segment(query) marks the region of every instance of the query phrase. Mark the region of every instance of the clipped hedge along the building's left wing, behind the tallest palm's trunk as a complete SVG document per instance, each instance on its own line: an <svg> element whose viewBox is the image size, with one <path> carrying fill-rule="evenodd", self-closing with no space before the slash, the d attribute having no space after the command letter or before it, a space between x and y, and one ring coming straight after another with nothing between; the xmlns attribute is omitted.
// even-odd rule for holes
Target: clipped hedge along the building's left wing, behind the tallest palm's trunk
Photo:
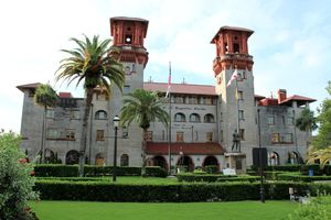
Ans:
<svg viewBox="0 0 331 220"><path fill-rule="evenodd" d="M61 164L43 164L34 167L35 176L38 177L75 177L78 175L78 165L61 165ZM159 166L146 167L148 176L166 177L167 172ZM109 176L113 174L113 166L84 166L85 176ZM125 167L116 168L117 176L139 176L141 167Z"/></svg>

